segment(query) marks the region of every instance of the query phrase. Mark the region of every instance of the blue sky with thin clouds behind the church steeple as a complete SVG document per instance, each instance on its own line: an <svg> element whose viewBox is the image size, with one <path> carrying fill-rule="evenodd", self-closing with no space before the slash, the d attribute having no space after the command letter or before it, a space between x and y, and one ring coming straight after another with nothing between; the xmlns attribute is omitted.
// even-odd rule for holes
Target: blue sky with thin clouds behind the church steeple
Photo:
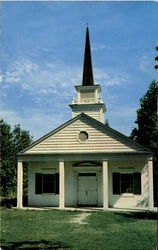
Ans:
<svg viewBox="0 0 158 250"><path fill-rule="evenodd" d="M34 139L71 119L86 23L110 126L129 135L154 70L156 2L3 2L2 115Z"/></svg>

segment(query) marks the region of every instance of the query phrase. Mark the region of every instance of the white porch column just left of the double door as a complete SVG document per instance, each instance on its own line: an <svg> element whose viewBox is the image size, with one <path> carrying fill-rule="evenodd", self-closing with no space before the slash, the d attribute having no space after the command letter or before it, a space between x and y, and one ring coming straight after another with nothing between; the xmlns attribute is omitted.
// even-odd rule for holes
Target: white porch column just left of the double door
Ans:
<svg viewBox="0 0 158 250"><path fill-rule="evenodd" d="M64 162L59 162L59 208L65 207L65 166Z"/></svg>

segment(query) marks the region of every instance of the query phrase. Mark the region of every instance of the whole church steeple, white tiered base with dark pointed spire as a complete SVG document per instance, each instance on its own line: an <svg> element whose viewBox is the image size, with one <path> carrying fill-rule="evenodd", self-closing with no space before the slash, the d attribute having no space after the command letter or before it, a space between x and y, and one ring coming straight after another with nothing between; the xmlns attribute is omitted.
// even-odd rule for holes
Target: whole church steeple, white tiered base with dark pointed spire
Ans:
<svg viewBox="0 0 158 250"><path fill-rule="evenodd" d="M88 27L86 28L82 85L76 85L75 88L77 91L77 100L73 98L72 103L69 105L72 109L72 117L80 113L85 113L104 123L106 107L100 98L100 85L94 84Z"/></svg>

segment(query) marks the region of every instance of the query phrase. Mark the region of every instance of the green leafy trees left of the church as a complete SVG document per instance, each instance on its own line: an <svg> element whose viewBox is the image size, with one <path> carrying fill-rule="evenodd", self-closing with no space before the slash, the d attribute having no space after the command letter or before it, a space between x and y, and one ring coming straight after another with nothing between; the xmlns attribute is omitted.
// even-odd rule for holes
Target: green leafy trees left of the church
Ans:
<svg viewBox="0 0 158 250"><path fill-rule="evenodd" d="M16 192L17 154L32 142L28 131L16 125L11 130L4 120L0 120L1 141L1 193L3 196L14 197ZM26 186L27 173L24 171ZM24 187L25 187L24 186Z"/></svg>

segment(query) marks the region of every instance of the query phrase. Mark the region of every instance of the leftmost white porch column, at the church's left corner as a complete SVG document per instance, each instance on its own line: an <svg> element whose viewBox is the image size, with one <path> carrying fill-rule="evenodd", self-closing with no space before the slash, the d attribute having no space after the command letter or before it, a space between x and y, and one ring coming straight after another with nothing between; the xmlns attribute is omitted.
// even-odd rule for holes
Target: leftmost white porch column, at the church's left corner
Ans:
<svg viewBox="0 0 158 250"><path fill-rule="evenodd" d="M23 164L18 161L17 168L17 208L23 207Z"/></svg>

